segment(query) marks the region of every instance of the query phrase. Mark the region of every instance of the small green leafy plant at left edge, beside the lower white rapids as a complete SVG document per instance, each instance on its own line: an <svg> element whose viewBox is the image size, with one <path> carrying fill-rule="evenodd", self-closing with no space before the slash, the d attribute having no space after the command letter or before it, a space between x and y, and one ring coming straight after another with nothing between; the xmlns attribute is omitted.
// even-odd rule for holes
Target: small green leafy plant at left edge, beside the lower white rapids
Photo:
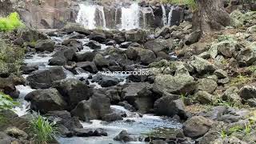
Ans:
<svg viewBox="0 0 256 144"><path fill-rule="evenodd" d="M3 94L0 91L0 110L10 110L14 106L17 106L17 105L18 105L18 103L14 102L13 98L10 98L9 95Z"/></svg>

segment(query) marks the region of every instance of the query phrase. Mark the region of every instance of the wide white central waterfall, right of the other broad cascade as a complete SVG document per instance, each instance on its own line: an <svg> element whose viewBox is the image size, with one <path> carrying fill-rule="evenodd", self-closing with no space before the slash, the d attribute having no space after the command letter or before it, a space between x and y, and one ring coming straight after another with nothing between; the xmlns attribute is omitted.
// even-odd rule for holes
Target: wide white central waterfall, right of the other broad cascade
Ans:
<svg viewBox="0 0 256 144"><path fill-rule="evenodd" d="M139 28L140 6L133 3L129 8L122 7L122 27L121 29L131 30Z"/></svg>

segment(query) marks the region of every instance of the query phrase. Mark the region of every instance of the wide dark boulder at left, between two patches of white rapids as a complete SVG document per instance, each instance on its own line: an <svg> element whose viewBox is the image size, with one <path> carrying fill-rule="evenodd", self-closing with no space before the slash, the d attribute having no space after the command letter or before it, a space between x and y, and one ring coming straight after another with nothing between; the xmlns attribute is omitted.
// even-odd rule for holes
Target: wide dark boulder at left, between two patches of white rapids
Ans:
<svg viewBox="0 0 256 144"><path fill-rule="evenodd" d="M54 81L66 78L62 67L51 67L49 70L37 70L30 74L26 80L34 89L47 89Z"/></svg>

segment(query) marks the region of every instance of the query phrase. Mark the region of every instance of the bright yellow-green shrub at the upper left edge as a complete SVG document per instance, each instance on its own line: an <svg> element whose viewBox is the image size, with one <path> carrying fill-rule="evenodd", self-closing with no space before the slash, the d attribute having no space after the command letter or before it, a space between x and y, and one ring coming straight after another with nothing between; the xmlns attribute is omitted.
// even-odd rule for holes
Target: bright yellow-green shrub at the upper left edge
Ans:
<svg viewBox="0 0 256 144"><path fill-rule="evenodd" d="M21 26L23 26L22 21L16 12L10 13L6 18L0 18L0 31L15 30Z"/></svg>

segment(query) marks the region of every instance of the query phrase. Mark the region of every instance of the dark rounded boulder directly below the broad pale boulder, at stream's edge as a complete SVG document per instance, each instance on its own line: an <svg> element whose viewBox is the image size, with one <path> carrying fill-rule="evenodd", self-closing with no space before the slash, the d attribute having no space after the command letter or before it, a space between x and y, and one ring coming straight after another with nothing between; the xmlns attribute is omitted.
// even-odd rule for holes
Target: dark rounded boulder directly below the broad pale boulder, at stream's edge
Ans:
<svg viewBox="0 0 256 144"><path fill-rule="evenodd" d="M182 102L182 99L178 98L177 95L168 95L159 98L156 102L154 102L154 113L168 117L178 115L182 119L187 118L185 105Z"/></svg>

